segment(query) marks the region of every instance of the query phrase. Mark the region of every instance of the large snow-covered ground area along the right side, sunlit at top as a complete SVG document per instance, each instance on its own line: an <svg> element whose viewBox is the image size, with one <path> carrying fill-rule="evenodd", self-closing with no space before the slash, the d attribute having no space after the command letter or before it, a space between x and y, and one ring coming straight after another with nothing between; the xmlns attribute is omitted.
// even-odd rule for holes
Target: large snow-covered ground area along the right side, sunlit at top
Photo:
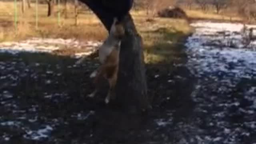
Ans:
<svg viewBox="0 0 256 144"><path fill-rule="evenodd" d="M186 142L255 143L256 42L244 48L242 24L196 22L191 26L195 32L186 42L186 66L198 78L192 93L197 122L184 128L184 135L191 138ZM230 40L237 47L226 44Z"/></svg>

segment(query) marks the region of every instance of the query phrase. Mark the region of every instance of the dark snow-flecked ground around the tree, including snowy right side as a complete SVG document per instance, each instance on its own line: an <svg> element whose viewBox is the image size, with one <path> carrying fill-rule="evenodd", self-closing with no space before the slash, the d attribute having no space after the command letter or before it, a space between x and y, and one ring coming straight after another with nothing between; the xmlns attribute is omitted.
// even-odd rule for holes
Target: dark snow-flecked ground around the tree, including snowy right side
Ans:
<svg viewBox="0 0 256 144"><path fill-rule="evenodd" d="M171 62L146 65L153 109L143 115L104 104L106 87L85 97L97 60L0 53L0 143L256 144L256 42L209 45L239 44L238 25L195 25Z"/></svg>

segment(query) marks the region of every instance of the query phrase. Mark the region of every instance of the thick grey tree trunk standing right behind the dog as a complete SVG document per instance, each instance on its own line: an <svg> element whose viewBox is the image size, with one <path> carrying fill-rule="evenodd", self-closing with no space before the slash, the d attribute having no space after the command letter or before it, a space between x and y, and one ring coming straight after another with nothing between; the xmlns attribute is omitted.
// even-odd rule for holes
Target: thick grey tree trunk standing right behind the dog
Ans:
<svg viewBox="0 0 256 144"><path fill-rule="evenodd" d="M124 19L126 36L120 49L120 63L116 86L117 102L134 110L150 106L143 57L142 38L138 34L132 16Z"/></svg>

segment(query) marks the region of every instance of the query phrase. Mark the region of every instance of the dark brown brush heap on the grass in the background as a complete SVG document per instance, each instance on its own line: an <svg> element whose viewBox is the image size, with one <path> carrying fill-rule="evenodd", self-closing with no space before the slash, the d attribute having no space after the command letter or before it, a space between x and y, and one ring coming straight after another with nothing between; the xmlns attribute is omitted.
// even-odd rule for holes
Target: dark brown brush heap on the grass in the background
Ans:
<svg viewBox="0 0 256 144"><path fill-rule="evenodd" d="M184 10L179 7L175 8L164 8L158 12L158 16L165 18L184 18L188 19L188 16Z"/></svg>

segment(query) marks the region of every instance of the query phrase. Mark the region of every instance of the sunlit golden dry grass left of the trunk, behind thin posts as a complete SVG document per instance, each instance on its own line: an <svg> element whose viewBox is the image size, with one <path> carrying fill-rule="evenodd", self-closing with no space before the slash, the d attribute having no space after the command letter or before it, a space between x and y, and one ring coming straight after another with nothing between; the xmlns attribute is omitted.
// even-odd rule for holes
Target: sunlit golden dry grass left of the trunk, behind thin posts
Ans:
<svg viewBox="0 0 256 144"><path fill-rule="evenodd" d="M20 8L20 3L18 3L18 8ZM71 8L71 5L69 5L69 9ZM24 14L18 10L18 30L16 33L14 27L14 4L12 2L0 2L0 9L0 27L3 27L3 31L0 34L4 35L0 41L22 40L30 37L102 40L107 34L98 18L89 12L79 14L79 25L75 26L74 14L69 10L68 18L65 19L62 16L61 26L58 26L56 12L52 17L46 16L46 4L38 6L38 30L36 30L35 26L34 4L32 4L32 8L27 8ZM61 11L63 11L63 7L61 7Z"/></svg>

